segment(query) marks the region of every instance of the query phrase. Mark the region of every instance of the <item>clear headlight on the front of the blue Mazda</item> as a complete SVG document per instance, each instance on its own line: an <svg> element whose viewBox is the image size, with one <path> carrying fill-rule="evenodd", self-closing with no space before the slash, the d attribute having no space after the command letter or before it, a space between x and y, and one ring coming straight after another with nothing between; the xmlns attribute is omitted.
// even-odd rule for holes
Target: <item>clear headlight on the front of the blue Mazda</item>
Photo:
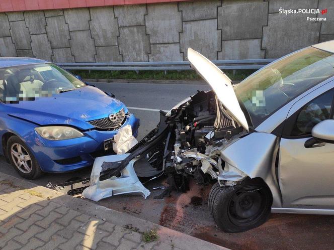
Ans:
<svg viewBox="0 0 334 250"><path fill-rule="evenodd" d="M35 131L43 138L47 140L66 140L78 137L83 137L80 131L73 129L71 127L64 126L47 126L35 128Z"/></svg>

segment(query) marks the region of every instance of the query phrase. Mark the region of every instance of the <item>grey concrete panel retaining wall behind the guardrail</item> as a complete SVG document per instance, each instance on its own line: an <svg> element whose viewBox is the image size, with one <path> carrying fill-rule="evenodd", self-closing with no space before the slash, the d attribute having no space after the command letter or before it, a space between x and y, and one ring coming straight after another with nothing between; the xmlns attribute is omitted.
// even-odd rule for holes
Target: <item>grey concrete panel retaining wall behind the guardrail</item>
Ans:
<svg viewBox="0 0 334 250"><path fill-rule="evenodd" d="M23 1L23 0L20 0ZM327 9L284 15L279 9ZM332 0L194 0L0 13L0 56L55 62L277 58L334 39Z"/></svg>

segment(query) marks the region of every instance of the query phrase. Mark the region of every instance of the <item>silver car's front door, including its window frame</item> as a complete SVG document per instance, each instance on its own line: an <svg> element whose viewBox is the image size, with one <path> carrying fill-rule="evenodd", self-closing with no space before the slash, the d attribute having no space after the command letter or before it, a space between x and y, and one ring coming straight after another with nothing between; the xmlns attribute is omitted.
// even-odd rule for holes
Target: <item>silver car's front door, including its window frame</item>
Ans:
<svg viewBox="0 0 334 250"><path fill-rule="evenodd" d="M297 101L294 106L304 104L285 121L278 161L284 208L334 208L334 144L305 146L315 124L333 118L333 97L334 88L304 97L308 102Z"/></svg>

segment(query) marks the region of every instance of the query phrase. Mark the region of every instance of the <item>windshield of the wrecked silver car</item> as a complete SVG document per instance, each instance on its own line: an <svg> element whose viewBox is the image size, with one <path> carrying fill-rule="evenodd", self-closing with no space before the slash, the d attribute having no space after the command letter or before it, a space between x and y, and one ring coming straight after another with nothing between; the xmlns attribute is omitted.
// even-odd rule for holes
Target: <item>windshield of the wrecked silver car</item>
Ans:
<svg viewBox="0 0 334 250"><path fill-rule="evenodd" d="M308 47L249 76L235 87L235 93L256 128L278 108L332 75L334 55Z"/></svg>

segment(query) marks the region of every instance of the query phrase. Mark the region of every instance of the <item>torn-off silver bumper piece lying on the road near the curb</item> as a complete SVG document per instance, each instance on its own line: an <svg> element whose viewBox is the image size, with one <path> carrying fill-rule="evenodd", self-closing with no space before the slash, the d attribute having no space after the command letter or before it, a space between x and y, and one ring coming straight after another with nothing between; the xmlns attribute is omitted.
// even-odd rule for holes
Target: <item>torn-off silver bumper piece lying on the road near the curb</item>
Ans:
<svg viewBox="0 0 334 250"><path fill-rule="evenodd" d="M146 197L150 195L150 192L141 184L133 169L133 164L137 159L131 160L121 171L119 177L113 176L100 181L100 173L103 170L102 165L104 163L115 163L115 167L117 167L118 163L123 161L127 156L129 156L129 154L96 158L91 174L91 186L82 192L82 196L93 201L99 201L113 195L140 194L146 199Z"/></svg>

